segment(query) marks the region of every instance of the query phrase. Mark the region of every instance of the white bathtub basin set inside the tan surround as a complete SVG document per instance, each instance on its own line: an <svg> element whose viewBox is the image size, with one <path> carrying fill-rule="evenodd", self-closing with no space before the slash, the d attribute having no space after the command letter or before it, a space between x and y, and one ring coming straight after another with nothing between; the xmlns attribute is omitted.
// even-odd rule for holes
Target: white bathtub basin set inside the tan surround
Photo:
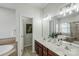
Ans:
<svg viewBox="0 0 79 59"><path fill-rule="evenodd" d="M9 55L13 48L14 48L14 45L1 45L0 46L0 56Z"/></svg>

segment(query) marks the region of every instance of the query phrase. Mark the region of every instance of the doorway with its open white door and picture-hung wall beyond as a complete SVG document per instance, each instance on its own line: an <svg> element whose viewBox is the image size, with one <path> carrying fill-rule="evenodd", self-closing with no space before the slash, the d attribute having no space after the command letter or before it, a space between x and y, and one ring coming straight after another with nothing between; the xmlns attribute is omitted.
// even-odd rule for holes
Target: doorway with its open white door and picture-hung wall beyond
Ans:
<svg viewBox="0 0 79 59"><path fill-rule="evenodd" d="M19 54L23 55L25 48L31 47L32 50L32 38L33 38L33 19L25 16L20 17L20 39L19 39Z"/></svg>

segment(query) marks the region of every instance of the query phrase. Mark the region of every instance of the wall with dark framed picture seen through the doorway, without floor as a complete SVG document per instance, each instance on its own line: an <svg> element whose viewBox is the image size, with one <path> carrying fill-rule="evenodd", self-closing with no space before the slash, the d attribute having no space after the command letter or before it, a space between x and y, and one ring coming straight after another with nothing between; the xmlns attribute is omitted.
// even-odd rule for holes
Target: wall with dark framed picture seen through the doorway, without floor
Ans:
<svg viewBox="0 0 79 59"><path fill-rule="evenodd" d="M32 18L23 19L24 47L32 45Z"/></svg>

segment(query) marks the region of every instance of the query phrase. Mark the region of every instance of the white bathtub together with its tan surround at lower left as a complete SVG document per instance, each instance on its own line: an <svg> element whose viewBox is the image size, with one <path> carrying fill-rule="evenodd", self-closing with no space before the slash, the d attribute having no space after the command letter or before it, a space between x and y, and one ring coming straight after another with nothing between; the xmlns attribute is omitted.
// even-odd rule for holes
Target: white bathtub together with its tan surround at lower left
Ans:
<svg viewBox="0 0 79 59"><path fill-rule="evenodd" d="M17 42L16 42L15 37L0 39L0 47L3 48L3 49L1 48L2 53L0 53L0 56L9 56L12 53L15 53L15 55L17 55L17 52L16 52L17 45L16 44L17 44Z"/></svg>

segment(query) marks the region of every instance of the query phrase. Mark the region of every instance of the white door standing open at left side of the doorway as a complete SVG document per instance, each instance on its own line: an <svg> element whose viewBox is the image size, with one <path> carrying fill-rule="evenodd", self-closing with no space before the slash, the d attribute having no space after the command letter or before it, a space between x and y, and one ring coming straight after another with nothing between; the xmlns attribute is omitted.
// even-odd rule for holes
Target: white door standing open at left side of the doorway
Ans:
<svg viewBox="0 0 79 59"><path fill-rule="evenodd" d="M24 49L24 44L23 44L23 40L24 40L24 35L23 35L23 17L21 16L20 17L20 45L19 45L19 52L20 52L20 55L23 54L23 49Z"/></svg>

